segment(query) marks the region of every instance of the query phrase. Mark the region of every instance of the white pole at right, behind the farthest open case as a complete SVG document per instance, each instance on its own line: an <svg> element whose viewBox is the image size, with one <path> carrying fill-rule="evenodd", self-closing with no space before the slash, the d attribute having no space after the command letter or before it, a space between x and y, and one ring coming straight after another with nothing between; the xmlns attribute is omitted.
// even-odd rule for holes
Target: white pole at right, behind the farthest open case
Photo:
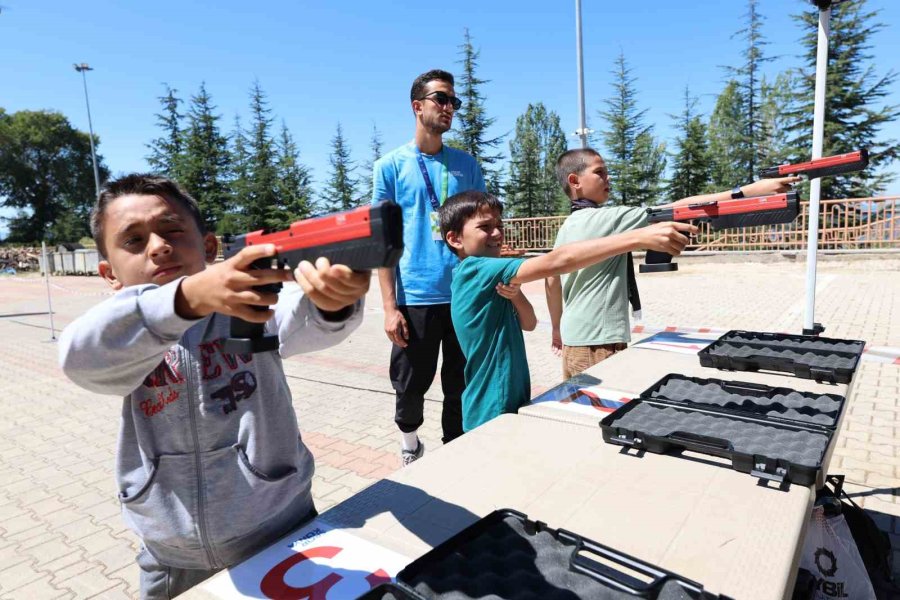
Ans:
<svg viewBox="0 0 900 600"><path fill-rule="evenodd" d="M816 91L815 108L813 110L813 148L812 158L822 157L822 145L825 137L825 84L828 74L828 38L831 34L829 21L831 8L819 10L819 45L816 51ZM819 196L822 191L822 180L813 179L809 184L809 228L806 234L806 314L803 320L803 333L816 335L824 328L816 326L816 250L819 246Z"/></svg>

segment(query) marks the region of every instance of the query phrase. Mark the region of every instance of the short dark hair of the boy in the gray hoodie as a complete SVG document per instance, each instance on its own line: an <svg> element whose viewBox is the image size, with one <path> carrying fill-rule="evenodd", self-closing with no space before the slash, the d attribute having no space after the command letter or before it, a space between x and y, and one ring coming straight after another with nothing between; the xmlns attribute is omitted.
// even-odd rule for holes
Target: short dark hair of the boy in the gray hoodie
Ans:
<svg viewBox="0 0 900 600"><path fill-rule="evenodd" d="M94 238L97 250L103 258L106 258L106 247L103 243L103 216L106 213L106 207L116 198L132 194L161 196L166 200L178 202L193 217L200 234L206 235L206 224L200 215L200 207L197 206L197 201L184 188L161 175L131 173L130 175L124 175L106 182L106 185L103 186L103 190L100 192L100 196L97 197L97 203L94 204L94 208L91 210L91 236Z"/></svg>

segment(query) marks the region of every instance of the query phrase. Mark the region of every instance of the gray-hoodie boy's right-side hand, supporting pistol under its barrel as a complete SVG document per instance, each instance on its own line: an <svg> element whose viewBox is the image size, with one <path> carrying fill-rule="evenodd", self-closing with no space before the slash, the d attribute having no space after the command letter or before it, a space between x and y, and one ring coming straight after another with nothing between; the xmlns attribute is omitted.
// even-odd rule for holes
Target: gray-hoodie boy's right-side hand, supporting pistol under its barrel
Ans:
<svg viewBox="0 0 900 600"><path fill-rule="evenodd" d="M321 257L315 265L302 261L294 269L294 277L319 310L337 312L366 295L372 272L332 265L327 258Z"/></svg>

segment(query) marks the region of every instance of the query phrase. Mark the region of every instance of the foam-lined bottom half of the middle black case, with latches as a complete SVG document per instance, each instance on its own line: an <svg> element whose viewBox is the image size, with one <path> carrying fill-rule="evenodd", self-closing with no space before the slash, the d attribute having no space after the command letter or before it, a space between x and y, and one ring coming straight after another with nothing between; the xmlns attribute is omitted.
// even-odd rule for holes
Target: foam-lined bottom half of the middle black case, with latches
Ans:
<svg viewBox="0 0 900 600"><path fill-rule="evenodd" d="M833 448L835 430L746 411L663 399L632 400L600 421L609 444L666 454L692 450L720 456L742 473L779 484L814 485Z"/></svg>

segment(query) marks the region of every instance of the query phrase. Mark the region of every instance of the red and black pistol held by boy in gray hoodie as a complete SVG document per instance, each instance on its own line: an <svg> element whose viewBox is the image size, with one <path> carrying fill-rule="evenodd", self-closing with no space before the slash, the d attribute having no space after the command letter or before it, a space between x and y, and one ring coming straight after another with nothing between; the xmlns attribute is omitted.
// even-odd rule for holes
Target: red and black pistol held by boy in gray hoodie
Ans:
<svg viewBox="0 0 900 600"><path fill-rule="evenodd" d="M356 271L393 268L403 254L403 214L397 204L382 202L297 221L282 231L259 230L224 236L223 254L230 258L247 246L259 244L275 244L277 254L256 261L251 267L254 269L286 266L294 269L300 261L313 262L320 256L333 265L347 265ZM279 292L281 284L259 289ZM232 317L231 337L225 340L224 348L231 354L268 352L278 349L278 336L265 334L264 323L248 323Z"/></svg>

